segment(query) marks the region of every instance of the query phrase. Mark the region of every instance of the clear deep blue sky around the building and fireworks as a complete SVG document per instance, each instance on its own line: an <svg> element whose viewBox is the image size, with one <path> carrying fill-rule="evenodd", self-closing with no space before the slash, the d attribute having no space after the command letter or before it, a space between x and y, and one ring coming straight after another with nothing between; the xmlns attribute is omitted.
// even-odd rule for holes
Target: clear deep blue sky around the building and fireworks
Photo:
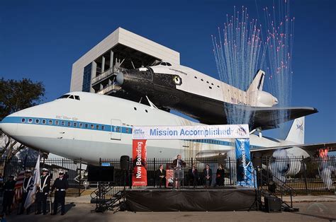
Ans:
<svg viewBox="0 0 336 222"><path fill-rule="evenodd" d="M219 78L211 35L223 28L234 6L246 6L251 18L260 18L271 2L2 0L0 78L43 81L44 101L54 100L69 91L72 64L118 27L180 52L182 65ZM333 0L291 1L291 105L319 111L306 117L307 144L336 141L335 9Z"/></svg>

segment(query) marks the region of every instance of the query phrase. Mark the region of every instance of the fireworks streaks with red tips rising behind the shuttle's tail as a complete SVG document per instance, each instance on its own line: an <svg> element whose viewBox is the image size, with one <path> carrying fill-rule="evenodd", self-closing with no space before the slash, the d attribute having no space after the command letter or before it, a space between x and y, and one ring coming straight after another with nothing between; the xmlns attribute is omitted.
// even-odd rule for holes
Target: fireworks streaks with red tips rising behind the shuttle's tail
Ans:
<svg viewBox="0 0 336 222"><path fill-rule="evenodd" d="M263 69L269 79L268 91L285 107L291 103L294 18L290 17L286 0L263 10L261 23L249 17L246 7L242 6L241 11L234 7L223 30L218 28L218 37L212 37L215 62L220 80L241 90L247 90L257 71ZM249 113L232 107L225 112L230 124L250 123ZM285 118L286 113L281 117Z"/></svg>

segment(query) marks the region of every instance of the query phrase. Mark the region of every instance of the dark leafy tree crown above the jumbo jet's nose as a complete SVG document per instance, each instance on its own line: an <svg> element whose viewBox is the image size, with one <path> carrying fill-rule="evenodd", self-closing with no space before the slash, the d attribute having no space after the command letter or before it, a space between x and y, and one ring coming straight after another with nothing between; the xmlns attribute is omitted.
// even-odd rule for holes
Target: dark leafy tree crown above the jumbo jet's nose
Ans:
<svg viewBox="0 0 336 222"><path fill-rule="evenodd" d="M0 78L0 120L13 112L37 105L44 95L45 86L40 81Z"/></svg>

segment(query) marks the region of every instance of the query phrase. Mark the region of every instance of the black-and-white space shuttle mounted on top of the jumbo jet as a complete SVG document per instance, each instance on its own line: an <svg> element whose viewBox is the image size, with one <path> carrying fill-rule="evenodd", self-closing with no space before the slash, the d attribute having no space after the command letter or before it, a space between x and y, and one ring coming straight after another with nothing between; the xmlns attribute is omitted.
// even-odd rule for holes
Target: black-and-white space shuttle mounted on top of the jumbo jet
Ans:
<svg viewBox="0 0 336 222"><path fill-rule="evenodd" d="M147 95L157 107L177 110L203 124L228 124L225 109L230 108L250 116L250 129L273 129L318 112L313 107L273 107L278 100L262 90L264 75L259 70L244 91L189 67L159 62L118 72L115 79L123 90Z"/></svg>

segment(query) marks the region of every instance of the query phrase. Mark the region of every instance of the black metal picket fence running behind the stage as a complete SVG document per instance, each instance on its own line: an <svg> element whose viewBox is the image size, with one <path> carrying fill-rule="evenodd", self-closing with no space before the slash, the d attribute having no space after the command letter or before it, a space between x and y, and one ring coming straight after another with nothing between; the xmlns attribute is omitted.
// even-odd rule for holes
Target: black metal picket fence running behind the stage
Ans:
<svg viewBox="0 0 336 222"><path fill-rule="evenodd" d="M172 158L150 158L147 159L147 186L152 187L155 185L155 170L159 169L159 165L163 165L167 170L172 164ZM223 185L230 186L236 184L237 171L236 160L227 158L223 159L207 159L196 160L194 158L183 159L186 163L184 168L184 186L192 185L190 181L190 175L188 175L189 169L192 164L196 165L199 173L199 179L197 181L198 186L204 185L203 169L206 164L210 165L213 171L212 185L215 185L216 170L218 164L222 164L225 170ZM18 175L23 169L34 170L36 160L24 160L18 158L12 158L6 161L0 160L0 164L4 166L4 180L7 180L9 175ZM113 165L114 167L114 181L109 184L114 188L111 192L116 192L123 189L123 186L131 187L132 185L132 160L130 160L129 170L126 172L121 170L120 159L103 159L99 160L100 165L103 163ZM58 173L62 170L65 171L67 179L69 180L69 192L68 194L80 195L83 191L84 181L86 180L86 164L82 160L70 160L67 158L41 158L40 169L47 168L52 175L52 181L56 179ZM276 184L286 185L291 187L296 194L334 194L335 193L335 180L336 180L336 158L304 158L298 157L263 157L262 158L262 186L267 187L270 182ZM276 178L276 179L275 179ZM259 179L258 185L259 184ZM96 188L97 185L91 183L91 188ZM89 188L89 187L88 187Z"/></svg>

